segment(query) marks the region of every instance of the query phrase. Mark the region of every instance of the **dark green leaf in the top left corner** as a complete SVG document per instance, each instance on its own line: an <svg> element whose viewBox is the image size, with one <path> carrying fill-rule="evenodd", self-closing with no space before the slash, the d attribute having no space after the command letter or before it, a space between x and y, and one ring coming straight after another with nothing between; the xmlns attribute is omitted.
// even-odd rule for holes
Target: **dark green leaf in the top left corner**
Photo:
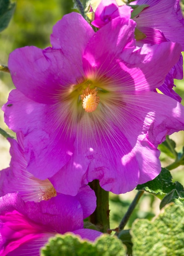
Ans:
<svg viewBox="0 0 184 256"><path fill-rule="evenodd" d="M13 16L16 4L10 0L0 0L0 32L4 30Z"/></svg>

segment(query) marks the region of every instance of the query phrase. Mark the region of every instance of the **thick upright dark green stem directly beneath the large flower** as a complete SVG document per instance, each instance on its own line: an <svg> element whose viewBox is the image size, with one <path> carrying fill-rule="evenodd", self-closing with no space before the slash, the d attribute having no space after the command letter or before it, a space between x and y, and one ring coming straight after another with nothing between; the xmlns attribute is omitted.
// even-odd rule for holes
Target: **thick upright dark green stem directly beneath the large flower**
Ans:
<svg viewBox="0 0 184 256"><path fill-rule="evenodd" d="M99 231L105 233L110 228L109 225L109 192L100 187L98 180L89 183L91 189L95 191L97 207L89 216L89 221L98 227Z"/></svg>

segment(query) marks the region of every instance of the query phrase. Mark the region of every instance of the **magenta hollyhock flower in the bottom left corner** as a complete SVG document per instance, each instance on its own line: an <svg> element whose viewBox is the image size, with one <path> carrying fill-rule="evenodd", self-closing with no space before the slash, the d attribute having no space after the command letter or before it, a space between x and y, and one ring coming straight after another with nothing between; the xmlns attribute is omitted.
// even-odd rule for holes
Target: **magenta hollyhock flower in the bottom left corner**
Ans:
<svg viewBox="0 0 184 256"><path fill-rule="evenodd" d="M24 202L17 193L1 197L0 255L39 256L40 248L50 237L68 231L95 240L102 233L84 229L83 210L70 195L37 203Z"/></svg>

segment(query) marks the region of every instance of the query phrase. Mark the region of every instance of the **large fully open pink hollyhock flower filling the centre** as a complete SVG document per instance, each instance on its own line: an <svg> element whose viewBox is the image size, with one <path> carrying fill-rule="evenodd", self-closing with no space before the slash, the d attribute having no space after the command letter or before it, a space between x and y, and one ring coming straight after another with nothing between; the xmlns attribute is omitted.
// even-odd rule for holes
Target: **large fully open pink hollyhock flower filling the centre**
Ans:
<svg viewBox="0 0 184 256"><path fill-rule="evenodd" d="M160 173L158 144L184 128L184 107L153 92L181 47L136 47L135 26L118 17L95 33L70 13L53 27L52 48L9 56L17 89L5 121L24 135L27 170L57 192L76 195L94 179L113 193L131 191Z"/></svg>

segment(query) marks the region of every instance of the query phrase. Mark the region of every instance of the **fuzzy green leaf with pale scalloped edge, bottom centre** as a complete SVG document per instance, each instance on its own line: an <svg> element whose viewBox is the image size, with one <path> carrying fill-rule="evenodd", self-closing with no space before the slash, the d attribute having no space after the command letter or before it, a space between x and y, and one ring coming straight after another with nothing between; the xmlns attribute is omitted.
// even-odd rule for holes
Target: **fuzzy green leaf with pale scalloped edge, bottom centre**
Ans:
<svg viewBox="0 0 184 256"><path fill-rule="evenodd" d="M122 242L115 236L103 234L95 243L82 240L72 233L56 235L41 249L41 256L124 256Z"/></svg>

